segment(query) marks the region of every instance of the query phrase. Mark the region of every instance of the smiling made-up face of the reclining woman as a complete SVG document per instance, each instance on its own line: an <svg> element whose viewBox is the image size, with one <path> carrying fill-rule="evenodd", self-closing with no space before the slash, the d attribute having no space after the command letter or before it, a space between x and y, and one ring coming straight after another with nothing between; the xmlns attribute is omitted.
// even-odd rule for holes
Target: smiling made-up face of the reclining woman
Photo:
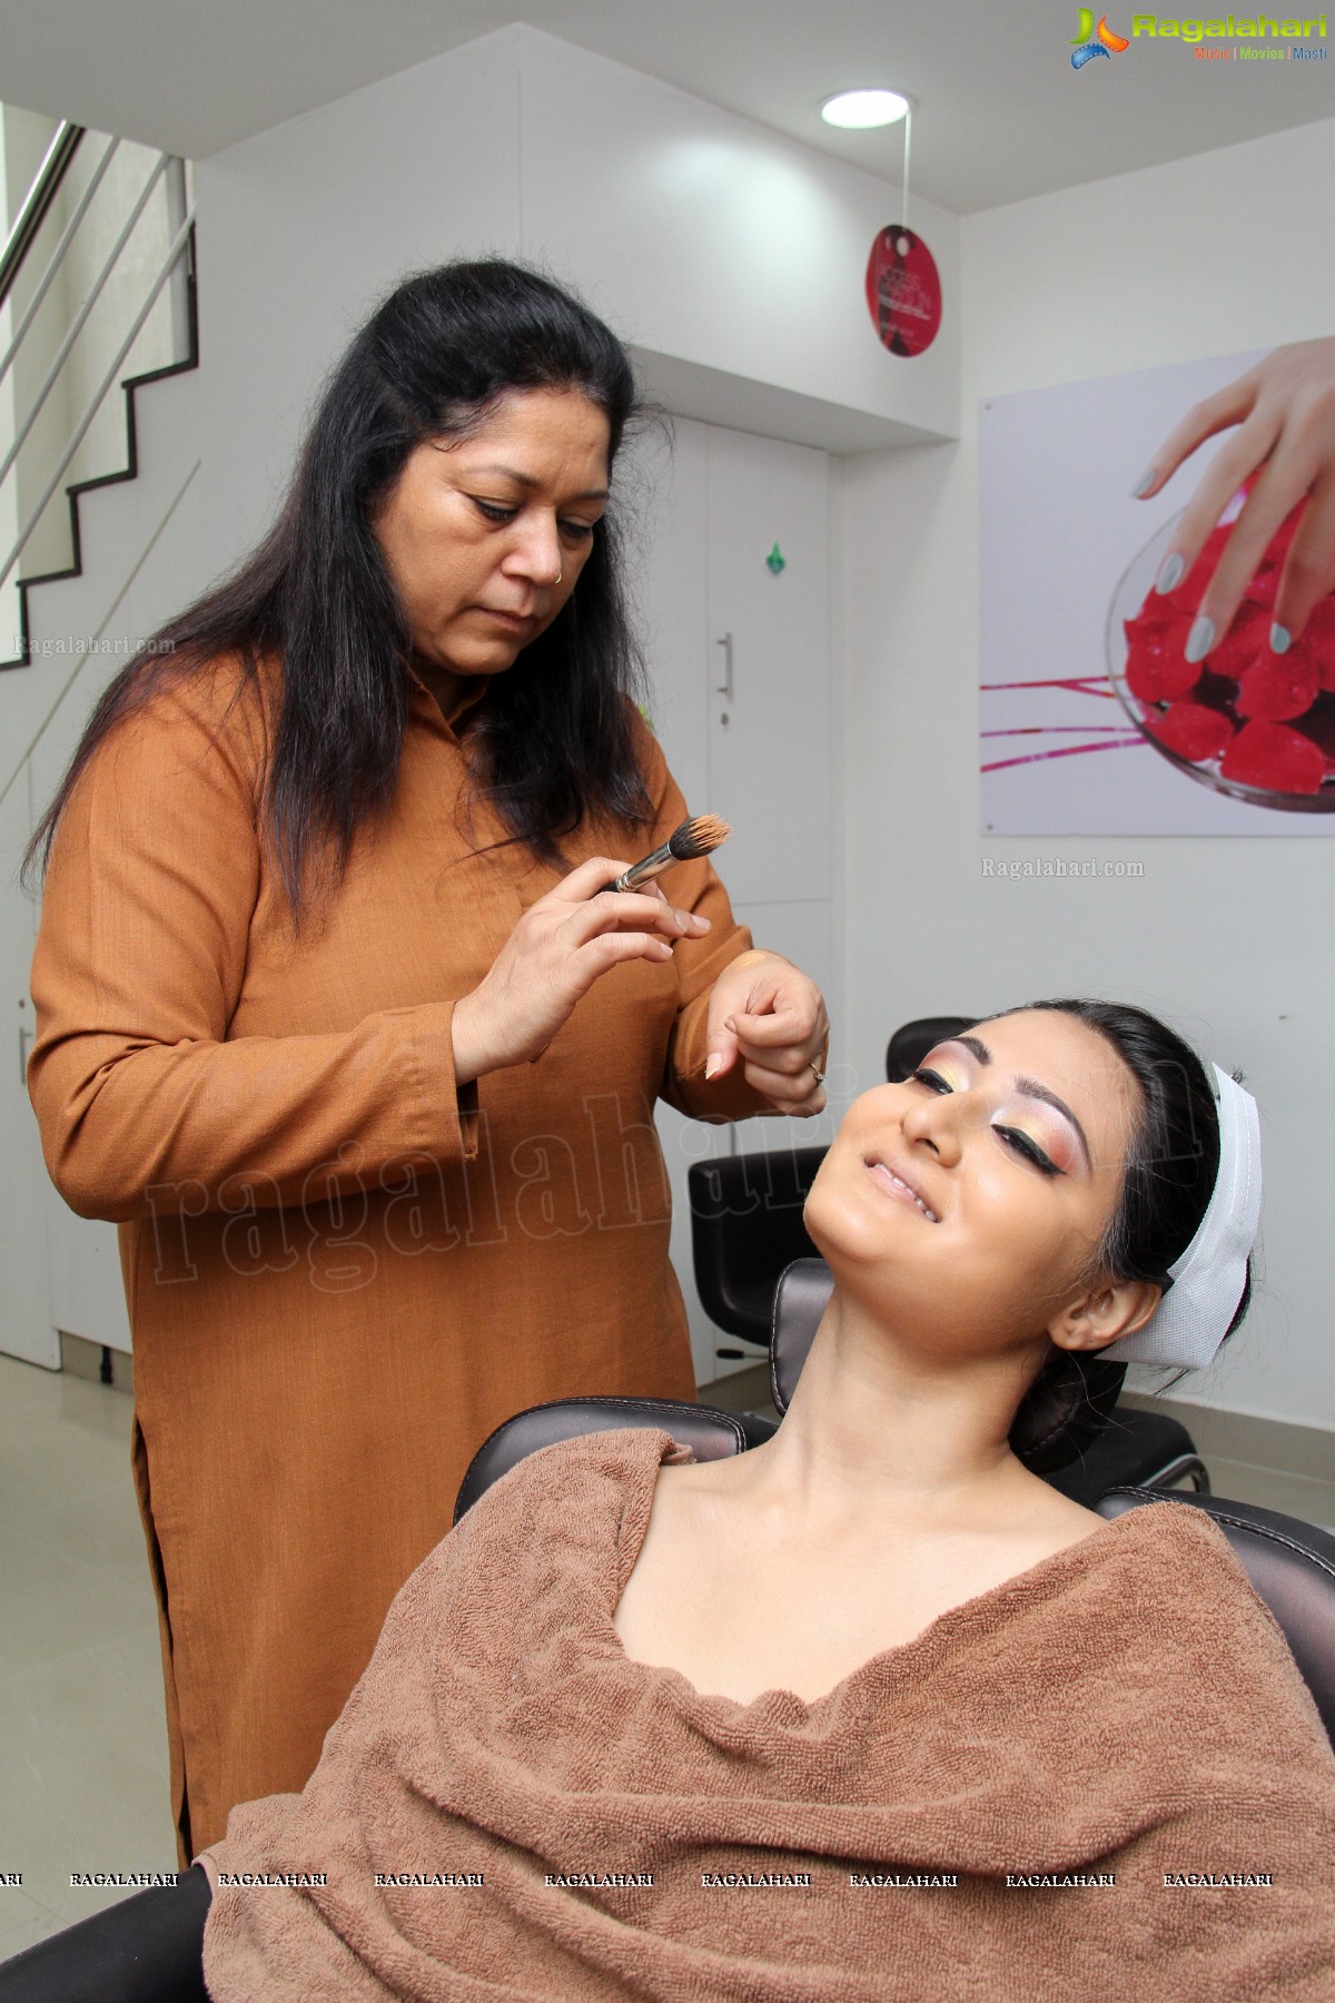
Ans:
<svg viewBox="0 0 1335 2003"><path fill-rule="evenodd" d="M1029 1342L1079 1290L1121 1192L1139 1088L1071 1016L937 1046L849 1108L807 1200L841 1284L959 1354Z"/></svg>

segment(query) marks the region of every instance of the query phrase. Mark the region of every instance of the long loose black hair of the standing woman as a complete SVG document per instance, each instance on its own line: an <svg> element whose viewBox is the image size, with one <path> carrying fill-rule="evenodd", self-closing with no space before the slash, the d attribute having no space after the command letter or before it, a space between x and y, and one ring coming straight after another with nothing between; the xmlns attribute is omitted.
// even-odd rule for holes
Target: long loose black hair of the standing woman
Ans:
<svg viewBox="0 0 1335 2003"><path fill-rule="evenodd" d="M168 621L94 707L24 871L46 865L102 739L158 689L220 655L236 655L246 681L276 659L282 695L262 817L300 917L312 863L324 857L340 869L358 825L386 807L398 779L410 637L374 513L414 447L466 435L514 389L580 391L606 415L608 467L636 413L620 341L538 272L490 258L396 286L328 379L270 533ZM608 511L578 589L492 679L468 731L474 779L512 839L558 859L558 839L586 817L650 817L628 705L640 689Z"/></svg>

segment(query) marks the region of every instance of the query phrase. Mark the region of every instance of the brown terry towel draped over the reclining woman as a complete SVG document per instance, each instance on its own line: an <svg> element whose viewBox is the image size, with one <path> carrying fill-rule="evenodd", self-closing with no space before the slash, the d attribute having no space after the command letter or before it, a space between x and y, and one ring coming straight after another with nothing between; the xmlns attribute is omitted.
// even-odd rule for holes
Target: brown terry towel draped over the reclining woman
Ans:
<svg viewBox="0 0 1335 2003"><path fill-rule="evenodd" d="M737 1705L610 1620L685 1458L550 1446L412 1574L304 1793L212 1853L216 2003L1335 1997L1335 1757L1215 1524L1133 1510Z"/></svg>

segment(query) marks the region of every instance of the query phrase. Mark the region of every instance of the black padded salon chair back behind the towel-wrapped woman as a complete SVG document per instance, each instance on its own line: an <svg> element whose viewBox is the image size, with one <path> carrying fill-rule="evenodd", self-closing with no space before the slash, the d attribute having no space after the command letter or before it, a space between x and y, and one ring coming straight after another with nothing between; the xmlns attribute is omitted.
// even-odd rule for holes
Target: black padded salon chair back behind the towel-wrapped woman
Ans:
<svg viewBox="0 0 1335 2003"><path fill-rule="evenodd" d="M831 1272L823 1260L799 1260L781 1280L771 1340L771 1390L779 1412L789 1408L831 1284ZM1097 1360L1089 1364L1089 1378L1081 1390L1097 1408L1091 1438L1099 1416L1107 1418L1117 1404L1121 1374L1121 1364L1099 1364ZM1053 1470L1045 1462L1057 1452L1055 1438L1067 1430L1071 1396L1069 1382L1057 1384L1047 1408L1043 1400L1033 1400L1025 1434L1011 1436L1019 1458L1035 1472L1045 1474L1047 1480L1053 1480ZM683 1404L673 1398L560 1398L554 1404L538 1404L530 1412L508 1418L476 1450L458 1490L454 1522L526 1454L540 1446L552 1446L556 1440L578 1438L586 1432L612 1432L620 1426L660 1426L683 1446L689 1446L697 1460L743 1454L777 1430L753 1414L719 1412L707 1404ZM1089 1468L1089 1442L1081 1448L1081 1464ZM1297 1516L1281 1516L1251 1502L1183 1494L1153 1482L1119 1484L1103 1496L1087 1486L1079 1500L1097 1506L1099 1514L1109 1518L1149 1502L1203 1508L1213 1516L1283 1628L1293 1658L1317 1701L1331 1745L1335 1745L1335 1536L1315 1524L1299 1522ZM4 1991L0 1991L0 2003L6 2003Z"/></svg>

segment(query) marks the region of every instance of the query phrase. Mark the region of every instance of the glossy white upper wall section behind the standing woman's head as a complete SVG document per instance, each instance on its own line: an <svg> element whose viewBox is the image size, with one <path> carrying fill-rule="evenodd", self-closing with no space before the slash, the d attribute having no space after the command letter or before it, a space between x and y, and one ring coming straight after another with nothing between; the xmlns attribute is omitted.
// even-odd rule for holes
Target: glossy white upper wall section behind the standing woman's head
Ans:
<svg viewBox="0 0 1335 2003"><path fill-rule="evenodd" d="M264 527L374 298L456 254L578 284L685 417L837 449L955 435L955 216L915 200L951 310L893 359L863 300L887 182L530 28L214 154L196 192L214 569Z"/></svg>

